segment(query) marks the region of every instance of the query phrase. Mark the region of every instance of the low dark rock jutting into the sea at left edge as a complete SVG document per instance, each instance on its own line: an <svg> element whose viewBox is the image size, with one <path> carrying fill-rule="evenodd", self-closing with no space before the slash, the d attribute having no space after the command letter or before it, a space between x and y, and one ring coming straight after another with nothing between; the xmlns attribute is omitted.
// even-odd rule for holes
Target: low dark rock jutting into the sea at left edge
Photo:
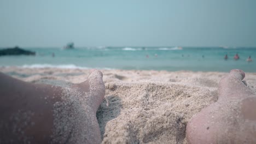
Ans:
<svg viewBox="0 0 256 144"><path fill-rule="evenodd" d="M9 55L36 55L36 52L33 51L27 51L20 49L18 46L14 48L8 48L8 49L0 49L0 56L9 56Z"/></svg>

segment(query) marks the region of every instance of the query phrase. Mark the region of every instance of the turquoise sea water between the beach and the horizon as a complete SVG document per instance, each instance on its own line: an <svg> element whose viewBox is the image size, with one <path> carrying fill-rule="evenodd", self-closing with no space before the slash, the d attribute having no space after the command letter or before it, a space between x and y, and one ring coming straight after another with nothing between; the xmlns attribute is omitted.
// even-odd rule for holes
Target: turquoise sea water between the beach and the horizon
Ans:
<svg viewBox="0 0 256 144"><path fill-rule="evenodd" d="M103 68L137 70L192 70L229 71L242 69L256 72L256 48L222 47L77 47L61 48L22 47L35 51L36 56L2 56L0 66L28 68ZM55 57L52 57L53 53ZM235 61L238 53L240 59ZM224 56L228 55L228 60ZM147 57L148 56L148 57ZM253 62L246 59L252 57Z"/></svg>

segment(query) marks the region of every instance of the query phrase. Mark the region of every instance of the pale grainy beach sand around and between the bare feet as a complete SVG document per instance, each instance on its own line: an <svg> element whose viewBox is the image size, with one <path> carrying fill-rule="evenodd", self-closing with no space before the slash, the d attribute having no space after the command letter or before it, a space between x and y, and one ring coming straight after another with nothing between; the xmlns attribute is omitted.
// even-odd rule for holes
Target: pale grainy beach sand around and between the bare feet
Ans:
<svg viewBox="0 0 256 144"><path fill-rule="evenodd" d="M91 70L1 67L20 80L68 86ZM228 73L101 70L106 95L97 111L102 143L187 143L189 119L218 99L218 83ZM256 94L256 73L246 73Z"/></svg>

